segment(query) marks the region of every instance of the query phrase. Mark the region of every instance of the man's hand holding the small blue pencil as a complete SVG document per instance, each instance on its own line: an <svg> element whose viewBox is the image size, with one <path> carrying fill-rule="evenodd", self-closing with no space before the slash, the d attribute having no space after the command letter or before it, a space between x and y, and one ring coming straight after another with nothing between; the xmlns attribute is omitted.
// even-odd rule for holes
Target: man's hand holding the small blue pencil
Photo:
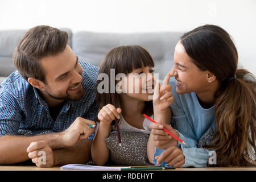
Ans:
<svg viewBox="0 0 256 182"><path fill-rule="evenodd" d="M94 132L94 128L89 125L95 125L95 122L81 117L76 118L72 125L62 133L64 146L70 147L78 140L88 138Z"/></svg>

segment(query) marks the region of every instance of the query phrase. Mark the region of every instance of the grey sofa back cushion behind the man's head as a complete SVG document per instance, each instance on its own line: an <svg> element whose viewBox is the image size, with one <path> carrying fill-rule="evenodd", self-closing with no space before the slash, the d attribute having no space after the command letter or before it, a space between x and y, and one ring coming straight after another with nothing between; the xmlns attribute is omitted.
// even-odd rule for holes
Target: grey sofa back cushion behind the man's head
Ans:
<svg viewBox="0 0 256 182"><path fill-rule="evenodd" d="M68 32L68 44L72 47L72 31L69 28L60 28ZM13 71L13 51L18 45L19 39L27 30L2 30L0 31L0 77L7 77Z"/></svg>

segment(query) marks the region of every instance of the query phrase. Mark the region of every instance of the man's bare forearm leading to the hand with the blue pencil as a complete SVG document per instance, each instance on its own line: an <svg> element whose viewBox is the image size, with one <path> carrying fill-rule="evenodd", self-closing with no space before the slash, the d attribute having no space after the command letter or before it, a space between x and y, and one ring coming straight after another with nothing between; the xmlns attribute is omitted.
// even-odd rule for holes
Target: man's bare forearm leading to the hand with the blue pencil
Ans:
<svg viewBox="0 0 256 182"><path fill-rule="evenodd" d="M61 148L64 144L61 133L20 137L6 135L0 138L0 164L13 164L28 160L27 147L31 142L44 140L51 148Z"/></svg>

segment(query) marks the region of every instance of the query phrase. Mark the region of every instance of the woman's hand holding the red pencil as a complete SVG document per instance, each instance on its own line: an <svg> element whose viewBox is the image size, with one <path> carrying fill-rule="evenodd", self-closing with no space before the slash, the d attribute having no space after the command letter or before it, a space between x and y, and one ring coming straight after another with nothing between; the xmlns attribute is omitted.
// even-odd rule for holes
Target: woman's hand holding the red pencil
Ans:
<svg viewBox="0 0 256 182"><path fill-rule="evenodd" d="M165 127L167 130L171 131L171 133L175 134L176 137L179 137L179 133L170 125L159 121L158 124L150 123L150 127L152 129L151 134L153 135L153 140L156 147L167 149L170 146L177 146L177 140L162 130L163 127Z"/></svg>

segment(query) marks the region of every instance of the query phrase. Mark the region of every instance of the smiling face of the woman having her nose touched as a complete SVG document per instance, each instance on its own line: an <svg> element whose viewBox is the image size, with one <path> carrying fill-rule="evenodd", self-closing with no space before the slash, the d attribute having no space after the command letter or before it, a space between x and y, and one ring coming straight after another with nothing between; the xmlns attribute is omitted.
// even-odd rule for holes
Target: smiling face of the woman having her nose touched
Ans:
<svg viewBox="0 0 256 182"><path fill-rule="evenodd" d="M202 92L209 87L209 71L201 71L192 63L183 44L178 42L174 51L174 67L170 75L175 77L176 92L179 94Z"/></svg>

